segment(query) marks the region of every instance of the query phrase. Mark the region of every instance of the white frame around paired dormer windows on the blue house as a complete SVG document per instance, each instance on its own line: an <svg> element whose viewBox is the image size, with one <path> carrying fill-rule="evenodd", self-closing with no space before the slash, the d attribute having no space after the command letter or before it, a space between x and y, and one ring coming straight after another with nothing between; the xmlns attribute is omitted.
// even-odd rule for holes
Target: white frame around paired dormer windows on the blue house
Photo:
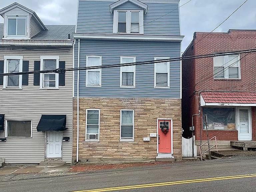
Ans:
<svg viewBox="0 0 256 192"><path fill-rule="evenodd" d="M118 12L126 12L126 32L118 32ZM139 33L131 33L131 12L139 12ZM144 34L143 10L114 10L113 33L118 34Z"/></svg>

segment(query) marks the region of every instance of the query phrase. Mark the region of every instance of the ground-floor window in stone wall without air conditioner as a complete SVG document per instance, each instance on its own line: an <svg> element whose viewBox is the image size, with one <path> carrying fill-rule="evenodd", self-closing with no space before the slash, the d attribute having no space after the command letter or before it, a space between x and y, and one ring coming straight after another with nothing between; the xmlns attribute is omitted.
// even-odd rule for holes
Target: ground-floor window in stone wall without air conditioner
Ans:
<svg viewBox="0 0 256 192"><path fill-rule="evenodd" d="M134 141L134 110L120 111L120 141Z"/></svg>

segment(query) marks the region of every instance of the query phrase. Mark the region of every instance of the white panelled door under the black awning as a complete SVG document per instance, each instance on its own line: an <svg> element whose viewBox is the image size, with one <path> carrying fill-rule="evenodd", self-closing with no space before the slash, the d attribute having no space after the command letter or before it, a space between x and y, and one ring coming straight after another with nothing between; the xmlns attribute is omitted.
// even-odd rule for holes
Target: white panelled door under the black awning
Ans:
<svg viewBox="0 0 256 192"><path fill-rule="evenodd" d="M46 132L46 158L61 158L62 156L62 132Z"/></svg>

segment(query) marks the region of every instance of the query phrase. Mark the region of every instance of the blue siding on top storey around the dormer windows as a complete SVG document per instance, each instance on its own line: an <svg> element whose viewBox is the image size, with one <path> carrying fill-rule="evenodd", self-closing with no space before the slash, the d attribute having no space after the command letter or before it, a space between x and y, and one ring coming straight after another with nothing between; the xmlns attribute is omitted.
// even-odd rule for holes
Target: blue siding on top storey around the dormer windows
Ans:
<svg viewBox="0 0 256 192"><path fill-rule="evenodd" d="M142 1L143 2L143 1ZM79 1L77 33L113 33L113 1ZM144 35L180 35L179 9L177 3L146 3ZM141 9L126 2L116 9ZM161 18L159 18L161 17Z"/></svg>

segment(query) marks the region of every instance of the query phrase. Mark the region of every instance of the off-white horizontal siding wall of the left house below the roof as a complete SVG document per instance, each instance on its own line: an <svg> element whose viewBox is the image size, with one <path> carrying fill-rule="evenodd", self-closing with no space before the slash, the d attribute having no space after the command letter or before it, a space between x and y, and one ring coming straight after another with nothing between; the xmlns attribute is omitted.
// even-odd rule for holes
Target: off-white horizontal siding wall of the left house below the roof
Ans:
<svg viewBox="0 0 256 192"><path fill-rule="evenodd" d="M41 55L59 55L60 61L66 62L66 68L72 68L72 49L44 48L1 50L0 60L4 55L23 56L29 61L29 71L34 70L34 60ZM32 120L32 138L7 138L0 142L0 157L6 163L39 163L45 159L45 132L37 132L36 127L42 114L66 114L67 127L63 137L70 137L70 142L63 142L62 160L72 161L72 72L65 76L65 86L59 90L43 90L33 85L33 74L29 75L29 85L19 89L2 89L0 86L0 113L5 120ZM5 133L0 132L0 138Z"/></svg>

